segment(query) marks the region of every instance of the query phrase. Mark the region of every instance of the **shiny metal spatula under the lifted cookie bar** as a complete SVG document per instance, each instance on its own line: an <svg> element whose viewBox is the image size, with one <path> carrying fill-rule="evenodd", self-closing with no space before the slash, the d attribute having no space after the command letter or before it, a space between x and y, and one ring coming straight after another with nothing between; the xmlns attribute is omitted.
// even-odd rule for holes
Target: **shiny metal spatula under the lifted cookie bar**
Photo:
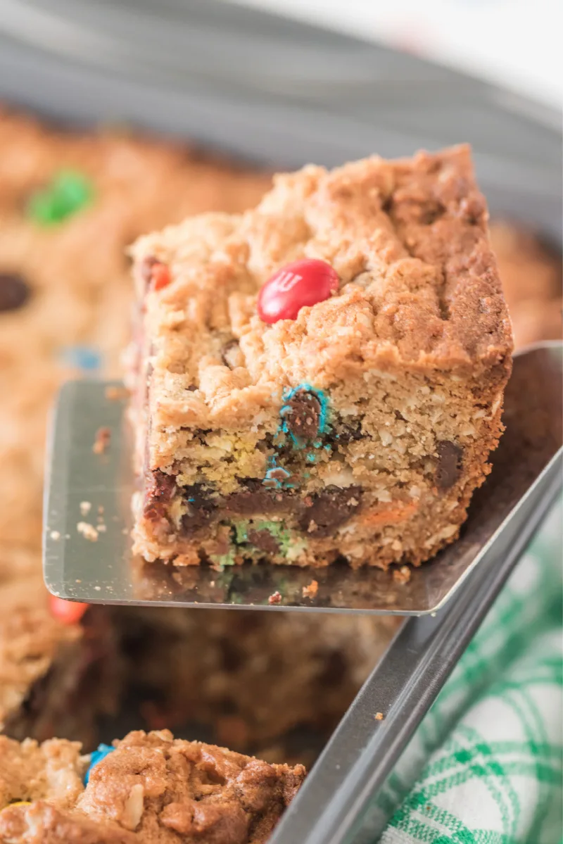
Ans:
<svg viewBox="0 0 563 844"><path fill-rule="evenodd" d="M55 595L86 603L434 613L506 532L525 529L531 491L537 493L560 471L562 373L560 343L517 355L506 391L506 434L490 478L474 495L462 536L413 569L406 583L392 571L353 571L338 564L312 573L266 563L218 572L133 560L127 398L114 382L69 382L58 397L48 450L46 585ZM536 499L537 508L543 496ZM304 598L303 587L313 576L317 595ZM275 592L281 601L270 605Z"/></svg>

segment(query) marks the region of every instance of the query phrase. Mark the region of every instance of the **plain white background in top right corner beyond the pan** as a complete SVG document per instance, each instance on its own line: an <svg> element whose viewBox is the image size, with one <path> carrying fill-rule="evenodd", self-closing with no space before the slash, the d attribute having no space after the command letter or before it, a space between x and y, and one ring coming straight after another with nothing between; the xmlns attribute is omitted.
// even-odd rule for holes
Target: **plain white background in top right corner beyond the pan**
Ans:
<svg viewBox="0 0 563 844"><path fill-rule="evenodd" d="M384 41L551 106L563 101L563 0L230 0Z"/></svg>

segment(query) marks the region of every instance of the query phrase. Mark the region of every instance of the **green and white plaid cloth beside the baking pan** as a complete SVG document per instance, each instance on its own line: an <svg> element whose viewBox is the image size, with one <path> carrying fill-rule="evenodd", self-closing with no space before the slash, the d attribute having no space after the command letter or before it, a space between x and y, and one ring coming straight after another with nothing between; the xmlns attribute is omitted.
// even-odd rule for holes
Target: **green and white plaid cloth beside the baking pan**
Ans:
<svg viewBox="0 0 563 844"><path fill-rule="evenodd" d="M563 841L561 523L558 505L387 780L380 844Z"/></svg>

